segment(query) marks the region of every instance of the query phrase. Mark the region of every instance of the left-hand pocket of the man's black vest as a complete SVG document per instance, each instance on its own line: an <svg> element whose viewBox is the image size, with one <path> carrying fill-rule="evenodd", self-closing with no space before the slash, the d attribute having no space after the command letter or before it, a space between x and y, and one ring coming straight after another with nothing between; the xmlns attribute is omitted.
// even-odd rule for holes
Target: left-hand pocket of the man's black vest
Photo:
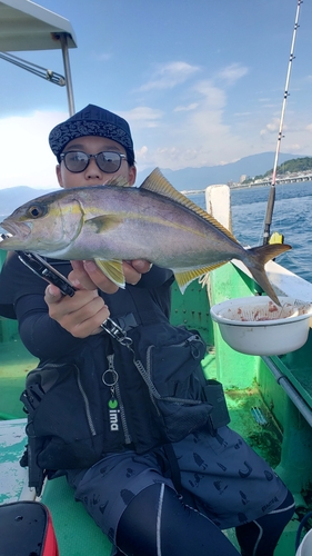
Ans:
<svg viewBox="0 0 312 556"><path fill-rule="evenodd" d="M91 373L91 368L90 368ZM28 414L29 473L90 467L104 446L103 419L94 413L73 363L46 364L29 373L21 400Z"/></svg>

